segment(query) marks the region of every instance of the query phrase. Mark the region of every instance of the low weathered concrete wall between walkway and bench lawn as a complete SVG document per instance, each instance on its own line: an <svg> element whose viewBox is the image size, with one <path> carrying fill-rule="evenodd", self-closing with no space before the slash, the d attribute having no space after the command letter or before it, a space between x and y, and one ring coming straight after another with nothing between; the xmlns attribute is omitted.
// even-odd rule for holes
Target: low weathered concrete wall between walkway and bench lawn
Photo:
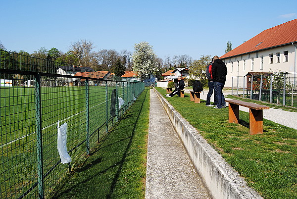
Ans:
<svg viewBox="0 0 297 199"><path fill-rule="evenodd" d="M214 199L261 199L198 131L155 89L200 178Z"/></svg>

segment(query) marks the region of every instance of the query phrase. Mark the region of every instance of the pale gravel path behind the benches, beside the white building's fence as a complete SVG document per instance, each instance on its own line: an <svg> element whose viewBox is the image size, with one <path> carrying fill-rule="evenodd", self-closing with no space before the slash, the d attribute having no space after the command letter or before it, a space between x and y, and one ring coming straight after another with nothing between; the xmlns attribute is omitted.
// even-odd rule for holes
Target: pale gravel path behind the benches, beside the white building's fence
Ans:
<svg viewBox="0 0 297 199"><path fill-rule="evenodd" d="M190 93L190 90L186 90L185 92ZM208 90L203 90L203 93L200 94L200 99L206 100L207 93ZM231 95L231 91L223 91L223 94L224 96ZM213 102L213 94L210 98L210 101ZM228 105L228 103L226 105ZM245 112L249 112L249 109L247 107L239 106L239 109ZM270 108L268 110L263 110L263 118L293 129L297 129L297 112L285 111L281 108Z"/></svg>

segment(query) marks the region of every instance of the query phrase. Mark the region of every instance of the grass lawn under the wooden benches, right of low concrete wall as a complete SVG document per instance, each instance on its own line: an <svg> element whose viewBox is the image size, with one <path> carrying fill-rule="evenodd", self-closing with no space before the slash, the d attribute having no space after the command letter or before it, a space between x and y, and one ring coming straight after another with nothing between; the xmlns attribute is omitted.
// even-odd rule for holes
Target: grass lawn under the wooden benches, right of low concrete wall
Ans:
<svg viewBox="0 0 297 199"><path fill-rule="evenodd" d="M166 90L156 88L165 96ZM185 98L166 98L265 199L297 198L297 130L263 120L263 135L249 135L249 117L228 123L228 108L206 107Z"/></svg>

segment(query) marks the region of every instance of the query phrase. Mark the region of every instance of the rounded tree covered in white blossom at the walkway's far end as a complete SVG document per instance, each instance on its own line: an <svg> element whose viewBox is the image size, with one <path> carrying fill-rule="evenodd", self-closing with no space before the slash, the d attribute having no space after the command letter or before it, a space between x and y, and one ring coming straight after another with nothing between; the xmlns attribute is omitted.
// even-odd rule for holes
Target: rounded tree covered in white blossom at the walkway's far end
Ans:
<svg viewBox="0 0 297 199"><path fill-rule="evenodd" d="M135 44L133 52L133 71L141 78L141 80L155 75L159 70L157 66L157 55L153 52L152 46L148 42Z"/></svg>

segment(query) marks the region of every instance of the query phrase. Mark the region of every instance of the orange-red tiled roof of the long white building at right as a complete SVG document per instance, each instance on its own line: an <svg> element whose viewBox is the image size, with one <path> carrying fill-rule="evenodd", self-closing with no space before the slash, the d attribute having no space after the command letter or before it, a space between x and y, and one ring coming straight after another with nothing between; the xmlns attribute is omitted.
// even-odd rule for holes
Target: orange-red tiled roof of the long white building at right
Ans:
<svg viewBox="0 0 297 199"><path fill-rule="evenodd" d="M248 52L264 50L297 42L297 19L264 30L239 47L227 52L220 58L227 58Z"/></svg>

